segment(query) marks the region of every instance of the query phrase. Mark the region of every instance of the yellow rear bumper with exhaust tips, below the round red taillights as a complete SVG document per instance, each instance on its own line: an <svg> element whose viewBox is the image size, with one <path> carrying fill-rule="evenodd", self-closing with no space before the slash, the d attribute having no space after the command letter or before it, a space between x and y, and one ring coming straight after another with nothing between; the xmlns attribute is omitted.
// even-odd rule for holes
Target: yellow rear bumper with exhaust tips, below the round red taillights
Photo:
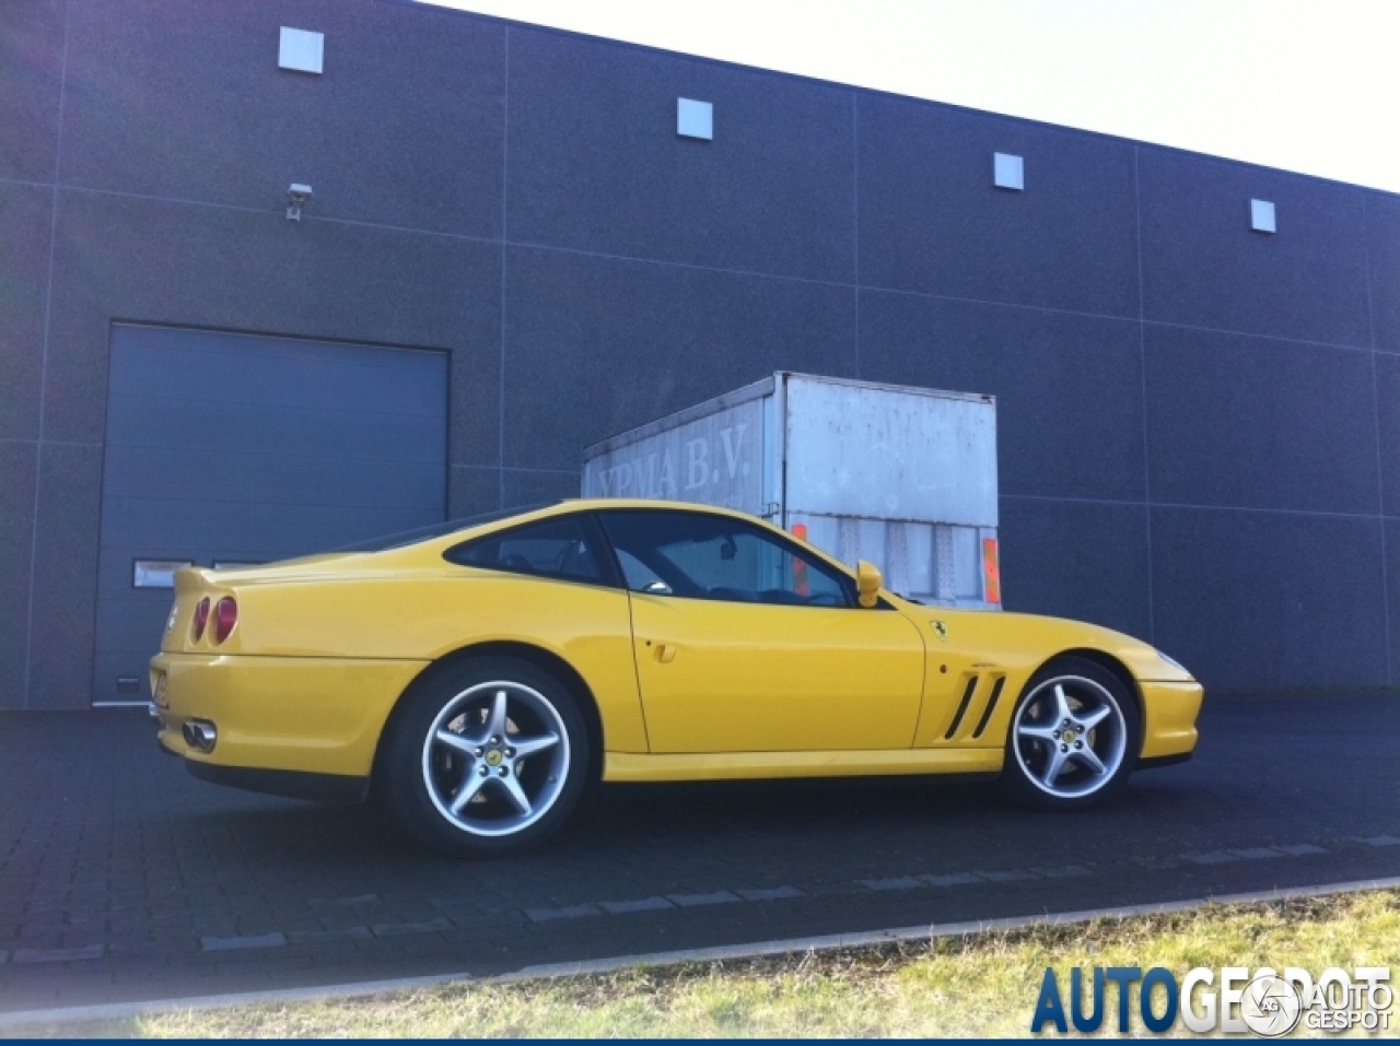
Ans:
<svg viewBox="0 0 1400 1046"><path fill-rule="evenodd" d="M199 764L190 772L207 779L211 768L368 779L389 712L424 664L162 653L151 660L160 743ZM213 751L185 743L181 729L189 720L217 727ZM283 787L255 790L287 794Z"/></svg>

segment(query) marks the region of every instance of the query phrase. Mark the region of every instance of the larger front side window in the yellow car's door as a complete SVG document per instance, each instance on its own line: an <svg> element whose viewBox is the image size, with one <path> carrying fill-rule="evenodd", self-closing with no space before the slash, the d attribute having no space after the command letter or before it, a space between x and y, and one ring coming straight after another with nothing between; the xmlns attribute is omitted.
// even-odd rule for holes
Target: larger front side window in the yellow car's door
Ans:
<svg viewBox="0 0 1400 1046"><path fill-rule="evenodd" d="M848 607L840 575L801 548L731 516L700 512L601 512L627 587L658 596Z"/></svg>

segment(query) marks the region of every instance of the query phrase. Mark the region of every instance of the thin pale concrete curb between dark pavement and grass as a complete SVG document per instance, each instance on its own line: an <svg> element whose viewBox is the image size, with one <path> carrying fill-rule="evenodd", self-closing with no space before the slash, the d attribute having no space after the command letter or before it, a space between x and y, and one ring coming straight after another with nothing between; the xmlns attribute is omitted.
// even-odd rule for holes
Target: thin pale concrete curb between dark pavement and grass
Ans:
<svg viewBox="0 0 1400 1046"><path fill-rule="evenodd" d="M435 987L455 980L475 980L483 984L510 984L521 980L546 977L574 977L599 973L616 973L634 966L676 966L687 962L725 962L734 959L757 959L773 955L790 955L809 951L834 951L837 948L867 948L875 944L895 941L925 941L935 937L966 937L987 930L1019 930L1028 926L1064 926L1088 923L1095 919L1131 919L1144 915L1166 915L1190 912L1205 905L1249 905L1266 901L1292 901L1296 898L1333 896L1337 894L1359 894L1369 889L1400 889L1400 875L1355 882L1327 882L1316 887L1292 887L1288 889L1264 889L1250 894L1221 894L1217 896L1169 901L1149 905L1124 905L1121 908L1099 908L1081 912L1056 912L1033 916L1011 916L1007 919L986 919L963 923L930 926L902 926L892 930L869 930L864 933L829 934L825 937L795 937L783 941L762 941L757 944L729 944L715 948L690 948L683 951L651 952L645 955L620 955L587 962L556 962L539 966L524 966L511 973L491 977L476 977L468 970L438 973L427 977L403 977L398 980L364 980L353 984L330 984L325 987L286 989L280 991L245 991L225 996L193 996L190 998L164 998L147 1003L111 1003L99 1005L74 1005L55 1010L15 1010L0 1014L0 1029L17 1029L35 1025L67 1025L92 1021L116 1021L140 1014L182 1012L188 1010L221 1010L234 1005L262 1005L269 1003L307 1003L329 998L360 998L388 991L407 991L417 987Z"/></svg>

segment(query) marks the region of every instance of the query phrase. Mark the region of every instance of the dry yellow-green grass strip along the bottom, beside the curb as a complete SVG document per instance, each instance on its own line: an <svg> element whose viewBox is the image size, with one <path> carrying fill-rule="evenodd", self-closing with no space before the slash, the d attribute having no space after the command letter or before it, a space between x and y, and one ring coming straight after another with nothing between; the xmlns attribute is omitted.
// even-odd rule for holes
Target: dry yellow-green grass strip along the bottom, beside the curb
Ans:
<svg viewBox="0 0 1400 1046"><path fill-rule="evenodd" d="M805 955L162 1012L81 1032L150 1038L1028 1036L1046 966L1056 968L1067 986L1068 969L1077 965L1165 966L1180 979L1194 966L1302 966L1317 975L1327 966L1397 963L1400 891L1376 891ZM1105 1031L1113 1025L1106 1021ZM1180 1024L1176 1031L1182 1033Z"/></svg>

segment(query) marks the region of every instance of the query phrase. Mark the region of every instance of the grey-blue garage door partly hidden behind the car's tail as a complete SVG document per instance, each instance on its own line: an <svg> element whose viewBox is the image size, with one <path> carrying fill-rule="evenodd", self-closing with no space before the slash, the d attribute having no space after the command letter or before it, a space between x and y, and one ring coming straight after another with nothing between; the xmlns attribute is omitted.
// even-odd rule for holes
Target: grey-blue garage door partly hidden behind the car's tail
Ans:
<svg viewBox="0 0 1400 1046"><path fill-rule="evenodd" d="M267 562L444 519L447 364L115 326L94 702L148 698L171 590L137 587L139 562Z"/></svg>

